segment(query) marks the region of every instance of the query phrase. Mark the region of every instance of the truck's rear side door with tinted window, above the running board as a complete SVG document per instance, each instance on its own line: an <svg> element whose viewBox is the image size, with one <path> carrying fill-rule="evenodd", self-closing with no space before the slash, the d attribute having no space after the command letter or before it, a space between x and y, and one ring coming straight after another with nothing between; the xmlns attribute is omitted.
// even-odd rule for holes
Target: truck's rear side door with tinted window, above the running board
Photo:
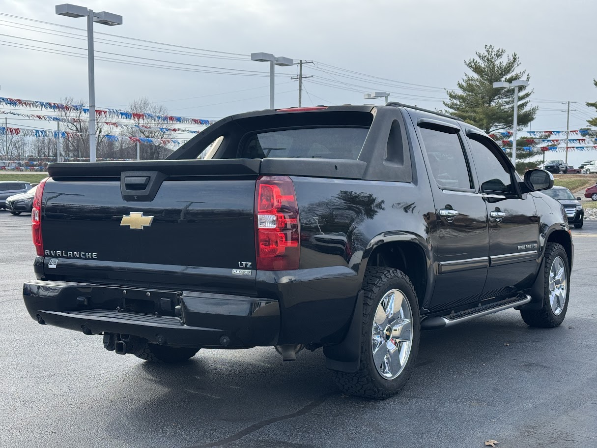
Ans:
<svg viewBox="0 0 597 448"><path fill-rule="evenodd" d="M488 269L487 208L475 189L457 121L409 111L423 148L435 205L435 288L429 311L476 302Z"/></svg>

